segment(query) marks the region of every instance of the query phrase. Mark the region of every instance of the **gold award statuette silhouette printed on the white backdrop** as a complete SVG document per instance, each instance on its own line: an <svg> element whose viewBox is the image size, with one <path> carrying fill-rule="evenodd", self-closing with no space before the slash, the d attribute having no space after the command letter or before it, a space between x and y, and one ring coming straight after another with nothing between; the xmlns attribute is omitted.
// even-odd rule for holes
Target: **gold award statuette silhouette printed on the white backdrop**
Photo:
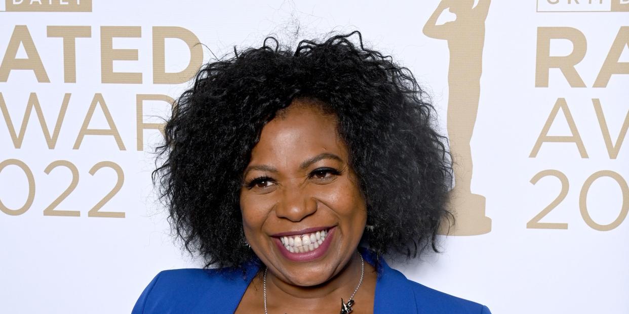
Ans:
<svg viewBox="0 0 629 314"><path fill-rule="evenodd" d="M447 123L454 159L454 188L448 207L455 215L455 224L450 226L446 222L440 234L474 236L491 231L491 219L485 216L485 197L472 194L470 188L470 140L481 95L482 48L490 2L478 0L474 6L474 0L442 0L423 28L426 36L447 40L450 50ZM446 9L457 18L437 25L437 19Z"/></svg>

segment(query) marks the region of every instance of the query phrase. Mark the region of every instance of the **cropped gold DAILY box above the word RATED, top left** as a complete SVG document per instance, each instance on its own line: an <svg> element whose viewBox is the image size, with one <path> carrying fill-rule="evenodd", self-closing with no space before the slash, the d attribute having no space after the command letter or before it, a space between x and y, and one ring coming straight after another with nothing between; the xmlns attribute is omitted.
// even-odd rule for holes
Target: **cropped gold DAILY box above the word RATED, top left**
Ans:
<svg viewBox="0 0 629 314"><path fill-rule="evenodd" d="M5 0L3 2L0 3L0 11L6 12L92 12L92 0Z"/></svg>

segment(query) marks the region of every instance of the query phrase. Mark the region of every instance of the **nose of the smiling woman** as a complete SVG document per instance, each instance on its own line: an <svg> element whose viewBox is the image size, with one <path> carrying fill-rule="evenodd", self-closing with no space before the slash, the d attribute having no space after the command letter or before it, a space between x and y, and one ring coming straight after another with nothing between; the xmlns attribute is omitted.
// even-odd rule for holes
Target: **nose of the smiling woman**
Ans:
<svg viewBox="0 0 629 314"><path fill-rule="evenodd" d="M316 200L306 188L283 188L281 199L276 207L277 217L299 222L316 212Z"/></svg>

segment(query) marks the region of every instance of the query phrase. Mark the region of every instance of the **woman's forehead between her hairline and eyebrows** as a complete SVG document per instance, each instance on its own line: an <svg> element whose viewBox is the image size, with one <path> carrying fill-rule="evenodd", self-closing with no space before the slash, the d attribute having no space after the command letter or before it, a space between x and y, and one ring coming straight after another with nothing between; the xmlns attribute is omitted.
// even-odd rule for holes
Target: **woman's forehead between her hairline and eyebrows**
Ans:
<svg viewBox="0 0 629 314"><path fill-rule="evenodd" d="M337 154L347 161L347 147L338 136L337 118L320 103L294 100L264 126L250 163L294 166L320 153Z"/></svg>

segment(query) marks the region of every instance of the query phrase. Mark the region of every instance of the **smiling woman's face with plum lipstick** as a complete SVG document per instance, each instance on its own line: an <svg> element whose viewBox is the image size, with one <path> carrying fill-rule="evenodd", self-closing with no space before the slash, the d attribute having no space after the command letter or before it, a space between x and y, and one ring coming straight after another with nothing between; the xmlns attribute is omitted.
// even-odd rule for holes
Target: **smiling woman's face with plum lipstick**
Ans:
<svg viewBox="0 0 629 314"><path fill-rule="evenodd" d="M337 120L318 105L294 100L264 126L243 182L245 236L277 278L321 284L356 254L365 200Z"/></svg>

